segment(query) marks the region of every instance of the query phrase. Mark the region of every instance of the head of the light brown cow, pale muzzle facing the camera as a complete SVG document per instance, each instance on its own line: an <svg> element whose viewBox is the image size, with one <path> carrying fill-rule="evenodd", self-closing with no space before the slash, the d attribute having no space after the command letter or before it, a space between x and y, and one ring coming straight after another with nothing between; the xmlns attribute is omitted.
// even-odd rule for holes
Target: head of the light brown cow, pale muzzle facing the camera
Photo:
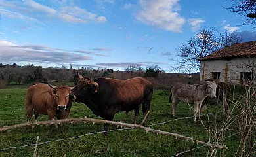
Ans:
<svg viewBox="0 0 256 157"><path fill-rule="evenodd" d="M48 91L57 104L57 111L67 109L68 101L75 101L76 97L72 94L74 87L69 86L53 86L48 84L52 89Z"/></svg>

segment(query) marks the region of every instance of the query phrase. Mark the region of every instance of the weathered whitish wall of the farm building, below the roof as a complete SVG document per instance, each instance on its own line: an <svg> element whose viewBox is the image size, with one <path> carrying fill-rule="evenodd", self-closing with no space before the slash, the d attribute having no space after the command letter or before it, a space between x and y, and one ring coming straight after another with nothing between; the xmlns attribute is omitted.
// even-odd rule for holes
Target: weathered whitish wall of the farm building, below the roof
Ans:
<svg viewBox="0 0 256 157"><path fill-rule="evenodd" d="M237 84L243 81L240 76L241 73L253 71L252 66L255 66L256 60L255 58L232 58L230 60L205 60L200 61L200 63L200 82L214 79L216 82ZM216 77L219 78L216 79Z"/></svg>

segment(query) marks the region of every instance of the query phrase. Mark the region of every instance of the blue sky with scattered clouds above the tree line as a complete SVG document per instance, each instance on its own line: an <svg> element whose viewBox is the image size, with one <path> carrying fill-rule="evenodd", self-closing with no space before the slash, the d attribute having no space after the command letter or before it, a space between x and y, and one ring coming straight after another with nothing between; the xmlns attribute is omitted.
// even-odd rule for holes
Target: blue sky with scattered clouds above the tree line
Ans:
<svg viewBox="0 0 256 157"><path fill-rule="evenodd" d="M177 46L204 27L238 31L244 41L255 29L241 25L224 0L0 0L0 63L107 67L158 65L170 73Z"/></svg>

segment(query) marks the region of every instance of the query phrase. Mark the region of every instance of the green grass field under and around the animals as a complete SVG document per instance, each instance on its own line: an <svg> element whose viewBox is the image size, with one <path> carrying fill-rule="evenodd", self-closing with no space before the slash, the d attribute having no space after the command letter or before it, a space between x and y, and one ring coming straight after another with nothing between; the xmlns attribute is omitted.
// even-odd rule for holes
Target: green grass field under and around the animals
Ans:
<svg viewBox="0 0 256 157"><path fill-rule="evenodd" d="M0 90L0 127L10 126L26 122L24 99L26 96L26 88L12 88ZM168 101L169 92L166 90L154 90L154 96L151 103L150 114L145 125L157 124L173 120L166 124L152 126L151 128L179 133L188 137L207 142L209 133L205 127L200 124L194 124L192 109L184 103L177 105L176 117L171 117L171 104ZM209 105L208 113L222 111L222 107ZM205 114L206 111L203 112ZM95 116L89 108L82 103L74 103L70 117L100 118ZM190 118L184 118L190 117ZM142 111L139 114L138 122L142 120ZM184 118L175 120L176 118ZM47 120L47 116L39 116L39 121ZM133 122L133 112L128 116L125 113L117 113L114 117L115 121ZM208 126L207 116L202 116L203 123ZM217 122L221 124L223 121L223 113L217 113L209 116L212 125ZM197 148L202 145L175 139L175 137L167 135L156 135L154 133L146 133L144 130L117 130L110 131L108 137L103 137L101 133L95 133L102 130L102 124L67 124L66 132L61 133L60 128L54 129L54 137L50 138L49 128L45 126L37 126L35 128L19 128L9 133L1 133L0 149L8 147L18 147L22 145L33 144L39 136L39 143L53 141L39 145L37 156L174 156L186 150ZM235 128L235 127L234 127ZM110 130L117 129L116 126L110 126ZM85 135L87 133L95 133L93 135ZM237 131L227 131L228 135L233 135ZM77 137L85 135L83 137ZM77 137L63 141L54 141L69 137ZM229 149L225 150L226 156L234 156L239 145L239 134L233 135L225 139L225 143ZM190 152L186 152L181 156L207 156L208 147L200 147ZM34 147L12 148L0 151L0 156L33 156Z"/></svg>

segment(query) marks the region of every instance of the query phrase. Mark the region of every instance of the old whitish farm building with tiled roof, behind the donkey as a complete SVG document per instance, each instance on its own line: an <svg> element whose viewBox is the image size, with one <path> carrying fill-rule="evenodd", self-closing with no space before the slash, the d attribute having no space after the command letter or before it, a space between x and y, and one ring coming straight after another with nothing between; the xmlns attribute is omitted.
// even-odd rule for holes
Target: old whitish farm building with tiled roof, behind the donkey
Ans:
<svg viewBox="0 0 256 157"><path fill-rule="evenodd" d="M232 44L200 58L200 64L200 81L214 79L228 84L250 82L256 70L256 41Z"/></svg>

